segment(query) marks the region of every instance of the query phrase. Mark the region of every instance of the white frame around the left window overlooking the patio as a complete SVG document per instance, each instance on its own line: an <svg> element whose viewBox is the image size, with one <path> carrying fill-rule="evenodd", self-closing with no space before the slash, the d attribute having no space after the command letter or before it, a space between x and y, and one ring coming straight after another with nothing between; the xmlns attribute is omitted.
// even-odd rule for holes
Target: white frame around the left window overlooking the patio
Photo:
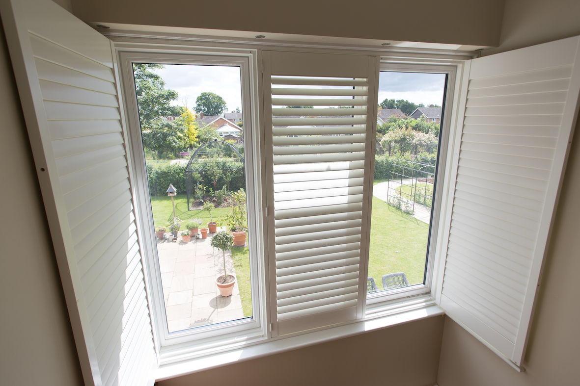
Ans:
<svg viewBox="0 0 580 386"><path fill-rule="evenodd" d="M187 345L195 341L196 355L206 350L218 349L224 343L232 341L260 340L266 336L264 315L264 285L262 278L262 234L261 222L258 217L260 205L260 168L258 141L258 117L256 114L256 85L255 85L255 58L253 52L205 52L199 50L192 53L166 53L158 50L143 49L137 52L132 50L117 51L119 72L121 73L122 96L124 97L127 131L128 131L128 155L131 156L131 168L133 170L132 186L134 188L134 200L139 228L139 239L143 249L144 269L147 274L148 296L150 310L153 313L152 323L154 336L158 343L160 356L164 355L166 348L175 345ZM240 68L240 80L242 90L242 112L244 123L244 146L246 162L246 186L248 192L248 228L251 237L250 267L252 277L252 318L244 318L237 321L213 323L195 329L182 330L169 333L166 325L165 302L159 270L157 246L155 243L153 213L148 193L147 170L143 156L143 143L140 130L139 111L135 82L133 79L133 63L157 63L157 64L183 64L183 65L230 65ZM251 214L253 213L253 215Z"/></svg>

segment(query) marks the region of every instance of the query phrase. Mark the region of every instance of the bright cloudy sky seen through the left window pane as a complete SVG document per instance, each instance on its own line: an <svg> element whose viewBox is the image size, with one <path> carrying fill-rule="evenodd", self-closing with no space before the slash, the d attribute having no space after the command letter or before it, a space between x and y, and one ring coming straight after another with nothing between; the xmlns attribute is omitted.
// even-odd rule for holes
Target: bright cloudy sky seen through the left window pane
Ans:
<svg viewBox="0 0 580 386"><path fill-rule="evenodd" d="M227 112L242 109L240 67L219 65L165 64L153 70L165 81L165 88L179 93L173 105L195 108L195 99L202 92L212 92L222 97Z"/></svg>

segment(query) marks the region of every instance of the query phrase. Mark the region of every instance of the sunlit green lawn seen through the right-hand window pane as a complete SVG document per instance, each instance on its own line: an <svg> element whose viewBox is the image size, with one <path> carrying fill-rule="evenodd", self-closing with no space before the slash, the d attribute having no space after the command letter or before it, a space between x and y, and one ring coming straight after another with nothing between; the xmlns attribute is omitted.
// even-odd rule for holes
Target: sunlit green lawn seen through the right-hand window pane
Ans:
<svg viewBox="0 0 580 386"><path fill-rule="evenodd" d="M382 276L392 272L405 272L411 284L423 282L428 236L429 225L372 198L368 276L379 290Z"/></svg>

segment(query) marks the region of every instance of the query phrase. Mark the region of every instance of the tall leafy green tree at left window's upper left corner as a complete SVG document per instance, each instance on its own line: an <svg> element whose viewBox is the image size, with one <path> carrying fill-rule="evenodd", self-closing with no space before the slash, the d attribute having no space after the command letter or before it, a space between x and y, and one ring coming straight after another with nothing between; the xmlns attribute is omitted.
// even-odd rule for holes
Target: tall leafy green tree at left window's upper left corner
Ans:
<svg viewBox="0 0 580 386"><path fill-rule="evenodd" d="M182 114L182 108L172 106L171 102L177 100L175 90L165 89L165 82L155 72L154 68L163 68L161 64L135 63L133 74L135 76L135 89L137 92L137 104L139 104L139 119L142 130L149 130L153 126L153 119L160 116L178 116Z"/></svg>

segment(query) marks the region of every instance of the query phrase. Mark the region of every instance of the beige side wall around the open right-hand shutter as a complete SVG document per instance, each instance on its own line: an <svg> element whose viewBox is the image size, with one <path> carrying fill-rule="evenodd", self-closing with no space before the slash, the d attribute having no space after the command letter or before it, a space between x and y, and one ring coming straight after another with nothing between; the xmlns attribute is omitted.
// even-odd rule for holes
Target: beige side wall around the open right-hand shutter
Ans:
<svg viewBox="0 0 580 386"><path fill-rule="evenodd" d="M505 51L580 34L580 2L507 0ZM439 386L580 383L580 123L575 128L545 271L524 359L517 373L451 319L445 319Z"/></svg>

